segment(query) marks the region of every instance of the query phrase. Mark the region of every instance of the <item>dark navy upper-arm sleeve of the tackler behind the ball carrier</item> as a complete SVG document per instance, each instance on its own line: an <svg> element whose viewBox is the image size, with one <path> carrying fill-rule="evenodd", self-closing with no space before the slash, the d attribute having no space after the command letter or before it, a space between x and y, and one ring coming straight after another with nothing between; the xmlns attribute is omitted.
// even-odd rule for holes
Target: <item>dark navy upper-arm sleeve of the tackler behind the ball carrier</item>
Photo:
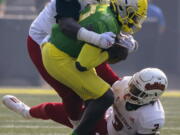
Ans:
<svg viewBox="0 0 180 135"><path fill-rule="evenodd" d="M62 17L72 17L75 20L79 19L80 3L78 0L56 0L56 20Z"/></svg>

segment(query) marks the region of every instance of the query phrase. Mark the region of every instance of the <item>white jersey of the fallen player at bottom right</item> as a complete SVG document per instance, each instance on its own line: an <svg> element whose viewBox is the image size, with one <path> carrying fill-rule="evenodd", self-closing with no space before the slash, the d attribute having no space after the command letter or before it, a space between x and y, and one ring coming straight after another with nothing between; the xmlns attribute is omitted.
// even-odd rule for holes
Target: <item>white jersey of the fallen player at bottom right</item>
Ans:
<svg viewBox="0 0 180 135"><path fill-rule="evenodd" d="M152 134L158 131L165 122L164 109L160 101L128 111L123 99L131 77L124 77L113 84L115 103L106 112L109 135Z"/></svg>

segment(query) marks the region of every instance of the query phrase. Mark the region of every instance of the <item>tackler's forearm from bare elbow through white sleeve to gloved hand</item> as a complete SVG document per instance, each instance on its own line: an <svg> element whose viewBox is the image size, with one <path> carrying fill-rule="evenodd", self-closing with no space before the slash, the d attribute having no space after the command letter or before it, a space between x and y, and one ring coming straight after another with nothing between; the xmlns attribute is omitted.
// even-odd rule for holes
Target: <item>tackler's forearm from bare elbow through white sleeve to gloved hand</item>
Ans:
<svg viewBox="0 0 180 135"><path fill-rule="evenodd" d="M98 34L96 32L90 31L85 27L82 27L77 21L73 18L63 17L58 20L58 24L61 26L61 30L66 35L85 41L87 43L96 45L100 48L109 48L112 46L115 40L115 34L112 32L105 32Z"/></svg>

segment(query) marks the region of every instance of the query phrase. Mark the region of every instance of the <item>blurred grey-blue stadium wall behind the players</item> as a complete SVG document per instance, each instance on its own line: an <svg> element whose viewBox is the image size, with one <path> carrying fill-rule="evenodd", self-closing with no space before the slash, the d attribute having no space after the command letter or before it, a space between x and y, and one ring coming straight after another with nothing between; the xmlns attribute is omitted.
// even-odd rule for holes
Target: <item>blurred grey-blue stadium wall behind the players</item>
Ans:
<svg viewBox="0 0 180 135"><path fill-rule="evenodd" d="M0 86L48 87L32 64L26 37L48 0L0 0ZM180 1L151 0L148 19L135 34L140 47L124 62L111 65L119 76L158 67L169 89L180 89Z"/></svg>

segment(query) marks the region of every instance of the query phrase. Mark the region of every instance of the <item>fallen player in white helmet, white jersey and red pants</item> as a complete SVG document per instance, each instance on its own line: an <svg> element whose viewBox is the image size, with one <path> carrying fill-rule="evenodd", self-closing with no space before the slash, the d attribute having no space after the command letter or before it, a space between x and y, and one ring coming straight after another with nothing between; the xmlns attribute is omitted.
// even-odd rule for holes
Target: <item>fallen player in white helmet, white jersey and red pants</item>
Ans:
<svg viewBox="0 0 180 135"><path fill-rule="evenodd" d="M96 125L99 135L159 135L165 123L160 96L168 80L158 68L145 68L133 76L116 81L112 90L115 101ZM62 103L43 103L29 107L14 96L3 97L4 105L24 118L51 119L73 128Z"/></svg>

